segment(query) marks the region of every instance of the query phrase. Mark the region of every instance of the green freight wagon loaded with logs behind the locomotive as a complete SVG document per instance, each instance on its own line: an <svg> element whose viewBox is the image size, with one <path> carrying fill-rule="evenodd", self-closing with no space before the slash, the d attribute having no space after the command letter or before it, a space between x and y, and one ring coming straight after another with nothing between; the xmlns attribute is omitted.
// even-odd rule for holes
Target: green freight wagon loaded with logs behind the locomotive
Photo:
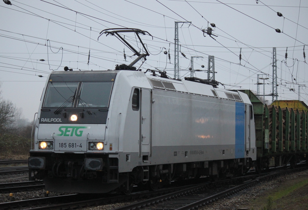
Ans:
<svg viewBox="0 0 308 210"><path fill-rule="evenodd" d="M295 167L306 160L307 105L298 100L264 105L250 90L240 90L253 104L256 129L257 169Z"/></svg>

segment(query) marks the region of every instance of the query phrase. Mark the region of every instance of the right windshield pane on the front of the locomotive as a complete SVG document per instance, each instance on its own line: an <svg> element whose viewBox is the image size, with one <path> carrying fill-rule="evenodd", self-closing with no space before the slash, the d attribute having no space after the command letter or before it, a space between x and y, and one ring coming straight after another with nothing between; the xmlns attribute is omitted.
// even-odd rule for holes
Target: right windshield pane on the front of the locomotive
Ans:
<svg viewBox="0 0 308 210"><path fill-rule="evenodd" d="M83 82L78 107L108 107L113 82Z"/></svg>

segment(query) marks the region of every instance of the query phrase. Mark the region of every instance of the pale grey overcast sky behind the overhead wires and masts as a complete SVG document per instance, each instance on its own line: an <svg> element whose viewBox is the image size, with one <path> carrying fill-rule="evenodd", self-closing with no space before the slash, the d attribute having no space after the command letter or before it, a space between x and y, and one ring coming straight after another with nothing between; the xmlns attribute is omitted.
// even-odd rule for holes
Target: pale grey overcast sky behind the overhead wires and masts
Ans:
<svg viewBox="0 0 308 210"><path fill-rule="evenodd" d="M213 55L215 79L225 84L226 89L257 91L257 75L267 74L260 77L270 78L265 80L264 87L265 94L270 94L272 52L277 47L278 99L298 99L301 85L301 100L308 101L308 89L303 87L308 85L308 65L303 57L304 45L308 56L306 0L12 0L11 3L0 2L2 98L21 107L30 121L38 111L51 71L63 71L65 66L74 71L113 70L116 64L128 65L136 58L114 36L103 35L98 40L99 32L107 28L148 31L153 39L148 35L141 38L151 55L141 68L166 70L173 77L175 21L192 22L179 24L180 52L186 56L180 54L181 78L190 75L192 56L203 57L194 59L194 69L206 70L208 55ZM218 35L214 37L216 40L202 32L210 23L217 26L212 27L213 34ZM276 28L283 33L277 33ZM124 35L136 49L140 48L134 35ZM165 49L170 52L170 60L163 53ZM141 61L135 66L138 68L140 64ZM194 76L207 79L205 72L196 72ZM263 94L263 85L259 87ZM295 91L290 91L292 88Z"/></svg>

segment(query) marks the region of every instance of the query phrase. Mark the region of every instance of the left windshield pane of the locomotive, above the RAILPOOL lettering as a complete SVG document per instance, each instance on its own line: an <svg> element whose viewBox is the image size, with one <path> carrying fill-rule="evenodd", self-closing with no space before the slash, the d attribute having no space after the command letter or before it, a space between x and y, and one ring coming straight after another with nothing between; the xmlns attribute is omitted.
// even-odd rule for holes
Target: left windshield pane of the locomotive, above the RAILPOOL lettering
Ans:
<svg viewBox="0 0 308 210"><path fill-rule="evenodd" d="M75 92L78 82L50 82L43 107L60 107L67 103L66 107L73 107Z"/></svg>

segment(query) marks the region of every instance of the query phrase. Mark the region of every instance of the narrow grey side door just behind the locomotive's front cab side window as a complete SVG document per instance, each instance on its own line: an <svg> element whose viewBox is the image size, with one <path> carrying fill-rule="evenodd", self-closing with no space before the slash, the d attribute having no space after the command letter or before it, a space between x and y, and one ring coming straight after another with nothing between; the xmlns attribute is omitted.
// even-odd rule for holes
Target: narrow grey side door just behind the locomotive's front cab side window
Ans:
<svg viewBox="0 0 308 210"><path fill-rule="evenodd" d="M141 152L150 152L151 139L151 92L140 88L140 140L139 156Z"/></svg>

